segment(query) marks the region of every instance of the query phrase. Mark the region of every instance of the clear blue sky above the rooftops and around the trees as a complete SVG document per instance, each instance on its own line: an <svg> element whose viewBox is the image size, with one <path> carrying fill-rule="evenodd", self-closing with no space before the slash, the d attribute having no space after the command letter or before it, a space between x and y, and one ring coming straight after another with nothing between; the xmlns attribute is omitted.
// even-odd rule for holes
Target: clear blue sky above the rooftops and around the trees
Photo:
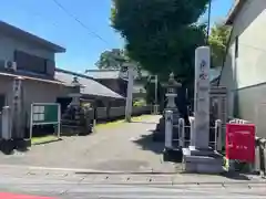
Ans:
<svg viewBox="0 0 266 199"><path fill-rule="evenodd" d="M0 20L66 48L57 55L57 66L82 72L95 69L101 52L122 48L123 40L110 28L111 0L58 0L92 32L63 12L52 0L7 0L1 2ZM225 18L233 0L214 0L212 21Z"/></svg>

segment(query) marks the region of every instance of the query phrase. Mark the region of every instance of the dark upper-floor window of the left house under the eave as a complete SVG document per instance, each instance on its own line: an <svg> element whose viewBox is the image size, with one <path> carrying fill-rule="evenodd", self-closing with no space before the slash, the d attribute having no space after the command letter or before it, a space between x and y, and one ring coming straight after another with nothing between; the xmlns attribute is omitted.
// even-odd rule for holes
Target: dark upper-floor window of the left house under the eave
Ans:
<svg viewBox="0 0 266 199"><path fill-rule="evenodd" d="M24 70L34 73L47 73L47 60L28 54L22 51L14 51L14 61L18 70Z"/></svg>

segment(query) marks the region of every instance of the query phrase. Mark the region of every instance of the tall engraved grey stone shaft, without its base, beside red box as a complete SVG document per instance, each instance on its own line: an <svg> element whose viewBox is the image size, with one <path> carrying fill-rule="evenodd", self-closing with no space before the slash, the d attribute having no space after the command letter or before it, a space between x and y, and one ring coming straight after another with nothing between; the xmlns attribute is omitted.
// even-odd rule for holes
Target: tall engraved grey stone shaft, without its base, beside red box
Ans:
<svg viewBox="0 0 266 199"><path fill-rule="evenodd" d="M209 62L208 46L195 52L195 147L208 148L209 139Z"/></svg>

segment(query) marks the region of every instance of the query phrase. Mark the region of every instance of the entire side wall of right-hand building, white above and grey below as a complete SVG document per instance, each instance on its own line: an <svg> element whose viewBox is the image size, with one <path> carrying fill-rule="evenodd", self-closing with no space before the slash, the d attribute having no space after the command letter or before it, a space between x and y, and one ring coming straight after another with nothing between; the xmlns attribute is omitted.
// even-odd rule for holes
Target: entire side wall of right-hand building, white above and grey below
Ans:
<svg viewBox="0 0 266 199"><path fill-rule="evenodd" d="M236 36L238 36L238 57L235 57ZM266 87L260 85L266 82L265 44L266 1L247 0L234 21L221 77L221 85L228 88L228 114L231 116L255 122L264 112L264 108L259 108L260 113L257 113L257 107L260 107L266 98L264 91ZM259 129L264 128L262 122L256 123Z"/></svg>

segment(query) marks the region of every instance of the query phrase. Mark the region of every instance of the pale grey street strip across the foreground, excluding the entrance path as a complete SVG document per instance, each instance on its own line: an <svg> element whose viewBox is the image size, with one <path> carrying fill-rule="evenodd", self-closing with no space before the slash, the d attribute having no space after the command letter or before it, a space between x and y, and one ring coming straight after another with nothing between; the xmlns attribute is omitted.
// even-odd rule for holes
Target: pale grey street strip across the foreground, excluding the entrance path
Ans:
<svg viewBox="0 0 266 199"><path fill-rule="evenodd" d="M266 181L258 177L100 175L4 167L1 167L0 176L0 192L62 199L266 198Z"/></svg>

